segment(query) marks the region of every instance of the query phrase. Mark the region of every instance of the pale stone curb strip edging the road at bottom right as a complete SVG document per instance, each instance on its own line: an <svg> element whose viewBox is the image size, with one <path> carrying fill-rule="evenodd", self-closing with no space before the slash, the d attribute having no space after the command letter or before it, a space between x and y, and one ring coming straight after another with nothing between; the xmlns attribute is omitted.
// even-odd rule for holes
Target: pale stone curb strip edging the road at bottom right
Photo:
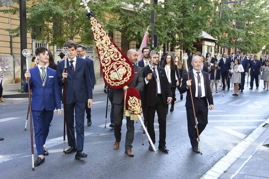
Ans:
<svg viewBox="0 0 269 179"><path fill-rule="evenodd" d="M200 179L217 179L220 177L224 171L226 171L237 159L239 159L239 157L251 146L251 144L254 143L254 141L256 141L256 139L258 139L265 130L267 130L267 128L262 127L265 124L269 124L269 118L254 129L250 135L233 147L230 152L215 163L215 165L202 175Z"/></svg>

